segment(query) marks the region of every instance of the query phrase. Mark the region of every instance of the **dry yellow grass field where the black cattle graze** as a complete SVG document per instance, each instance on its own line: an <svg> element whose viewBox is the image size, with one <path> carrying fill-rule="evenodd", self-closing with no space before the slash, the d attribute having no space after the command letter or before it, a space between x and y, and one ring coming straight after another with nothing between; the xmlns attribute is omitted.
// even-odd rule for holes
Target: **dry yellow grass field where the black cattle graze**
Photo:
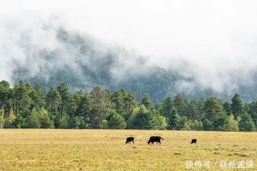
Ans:
<svg viewBox="0 0 257 171"><path fill-rule="evenodd" d="M152 135L161 145L146 143ZM222 160L252 160L253 169L223 170L257 170L257 133L2 129L0 137L0 170L186 170L187 160L210 160L208 170L215 161L219 170Z"/></svg>

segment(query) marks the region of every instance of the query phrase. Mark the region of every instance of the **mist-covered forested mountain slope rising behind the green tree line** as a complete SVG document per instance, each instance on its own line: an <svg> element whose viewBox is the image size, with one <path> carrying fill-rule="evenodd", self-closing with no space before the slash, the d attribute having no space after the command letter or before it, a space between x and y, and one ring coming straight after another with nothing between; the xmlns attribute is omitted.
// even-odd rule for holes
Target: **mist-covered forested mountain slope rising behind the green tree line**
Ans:
<svg viewBox="0 0 257 171"><path fill-rule="evenodd" d="M9 80L12 83L19 80L31 82L32 86L40 83L47 91L49 87L57 87L65 82L72 92L90 91L97 85L112 92L123 87L127 91L134 91L137 100L147 93L154 102L177 93L198 100L210 96L230 100L237 92L244 102L257 98L254 72L247 75L245 81L232 79L233 88L226 87L216 92L211 84L203 86L193 75L187 77L179 71L153 65L148 57L137 52L101 44L100 40L89 35L63 28L46 27L45 30L53 34L56 41L53 45L42 47L40 42L33 42L27 32L16 42L21 56L13 59L11 67L8 67L8 70L13 68ZM173 65L176 63L169 63L171 68Z"/></svg>

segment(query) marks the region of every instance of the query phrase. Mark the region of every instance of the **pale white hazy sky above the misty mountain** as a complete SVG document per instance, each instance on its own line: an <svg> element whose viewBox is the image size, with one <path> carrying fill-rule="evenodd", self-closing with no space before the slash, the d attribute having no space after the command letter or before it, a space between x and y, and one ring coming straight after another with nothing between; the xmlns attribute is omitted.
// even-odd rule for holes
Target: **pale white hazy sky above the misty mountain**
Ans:
<svg viewBox="0 0 257 171"><path fill-rule="evenodd" d="M9 20L34 28L41 18L138 51L223 90L256 71L256 7L257 1L9 0L0 7L0 43L6 38L1 34L8 34L1 27ZM6 56L2 52L3 61Z"/></svg>

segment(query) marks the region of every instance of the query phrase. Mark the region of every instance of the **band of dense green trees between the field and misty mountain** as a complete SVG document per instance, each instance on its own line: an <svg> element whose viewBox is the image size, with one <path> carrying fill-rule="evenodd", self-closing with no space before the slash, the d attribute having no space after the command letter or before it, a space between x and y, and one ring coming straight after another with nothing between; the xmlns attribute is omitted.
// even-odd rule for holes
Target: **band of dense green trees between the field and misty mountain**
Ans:
<svg viewBox="0 0 257 171"><path fill-rule="evenodd" d="M256 131L257 101L216 97L183 98L180 93L155 103L148 94L96 86L72 93L65 83L45 92L40 84L0 82L0 123L5 128L143 129Z"/></svg>

